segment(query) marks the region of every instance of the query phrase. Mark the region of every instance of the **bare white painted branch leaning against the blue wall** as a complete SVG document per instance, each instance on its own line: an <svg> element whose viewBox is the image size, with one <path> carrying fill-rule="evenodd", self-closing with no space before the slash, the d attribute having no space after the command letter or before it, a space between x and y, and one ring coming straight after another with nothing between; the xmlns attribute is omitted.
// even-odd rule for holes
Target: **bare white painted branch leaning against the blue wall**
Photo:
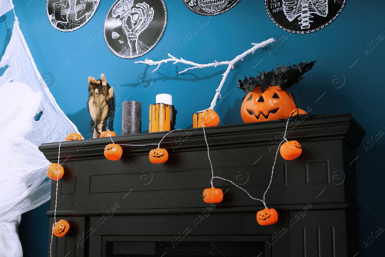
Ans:
<svg viewBox="0 0 385 257"><path fill-rule="evenodd" d="M224 74L222 74L223 77L222 77L221 83L219 84L219 87L216 89L216 93L215 93L214 99L213 99L213 101L211 101L211 105L208 108L208 109L214 109L215 105L216 105L216 101L218 99L218 96L219 96L219 98L221 98L221 94L220 93L221 93L221 89L223 87L224 81L226 81L226 78L227 78L229 72L231 71L231 69L234 69L236 62L238 62L239 60L243 60L243 58L246 55L250 54L250 53L254 54L254 51L257 50L258 48L265 47L266 45L271 44L274 41L275 41L275 39L271 38L271 39L263 41L263 42L261 42L259 44L251 43L252 45L254 45L252 48L250 48L249 50L247 50L243 54L238 55L237 57L235 57L231 61L217 62L216 60L214 60L215 62L212 62L212 63L209 63L209 64L198 64L198 63L195 63L195 62L184 60L183 58L177 59L174 56L172 56L171 54L168 54L168 56L170 57L169 59L160 60L160 61L153 61L153 60L146 59L144 61L137 61L135 63L144 63L144 64L148 64L148 65L157 65L157 67L156 67L156 69L154 69L154 71L156 71L159 68L159 66L161 66L162 63L166 63L166 62L169 62L169 61L173 61L174 62L173 64L181 62L181 63L189 64L189 65L192 66L192 67L189 67L189 68L185 69L184 71L179 72L179 74L181 74L181 73L183 73L185 71L188 71L190 69L198 69L198 68L201 69L201 68L213 67L213 66L217 67L219 65L228 65L226 71L224 72ZM152 72L154 72L154 71L152 71Z"/></svg>

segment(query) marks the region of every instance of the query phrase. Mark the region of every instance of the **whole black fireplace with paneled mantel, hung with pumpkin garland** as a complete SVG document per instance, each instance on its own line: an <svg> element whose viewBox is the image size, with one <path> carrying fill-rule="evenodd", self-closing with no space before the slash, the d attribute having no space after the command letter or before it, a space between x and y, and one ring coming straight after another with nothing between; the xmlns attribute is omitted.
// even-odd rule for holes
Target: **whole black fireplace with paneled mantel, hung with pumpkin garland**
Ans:
<svg viewBox="0 0 385 257"><path fill-rule="evenodd" d="M261 198L286 121L206 128L214 176ZM159 143L166 133L113 139ZM256 221L262 203L227 181L214 179L224 192L221 203L203 201L211 168L202 128L166 136L161 148L169 160L159 165L148 160L156 146L122 146L122 158L109 161L103 150L110 138L63 142L56 220L67 220L70 230L54 236L52 256L353 256L359 251L360 211L353 160L364 136L350 114L291 119L286 138L297 140L303 151L291 161L278 153L266 202L279 219L269 226ZM59 143L39 149L57 162ZM52 200L51 227L54 208Z"/></svg>

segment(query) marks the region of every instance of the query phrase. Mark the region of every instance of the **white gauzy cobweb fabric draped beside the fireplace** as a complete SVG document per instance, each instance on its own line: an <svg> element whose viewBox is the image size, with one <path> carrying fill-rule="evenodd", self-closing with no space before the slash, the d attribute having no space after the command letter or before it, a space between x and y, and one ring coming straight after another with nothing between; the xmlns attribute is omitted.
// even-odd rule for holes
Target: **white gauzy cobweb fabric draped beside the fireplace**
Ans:
<svg viewBox="0 0 385 257"><path fill-rule="evenodd" d="M8 3L0 0L0 13ZM38 146L62 141L66 134L79 131L60 110L37 71L16 17L0 61L3 67L7 69L0 76L0 257L21 257L20 215L50 199L50 163Z"/></svg>

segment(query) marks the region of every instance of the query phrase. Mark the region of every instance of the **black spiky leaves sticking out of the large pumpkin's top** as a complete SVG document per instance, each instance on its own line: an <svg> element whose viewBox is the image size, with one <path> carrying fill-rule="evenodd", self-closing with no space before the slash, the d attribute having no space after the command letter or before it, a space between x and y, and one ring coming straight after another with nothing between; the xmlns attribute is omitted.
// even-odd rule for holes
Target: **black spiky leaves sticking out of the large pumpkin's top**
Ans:
<svg viewBox="0 0 385 257"><path fill-rule="evenodd" d="M259 72L258 77L250 76L247 78L244 76L243 81L238 79L238 88L243 89L244 94L253 91L255 87L261 87L262 92L268 89L269 86L280 86L282 90L286 90L303 79L303 74L310 71L315 62L316 60L309 63L304 61L300 62L298 65L284 65L282 68L278 64L275 71L272 69L267 72Z"/></svg>

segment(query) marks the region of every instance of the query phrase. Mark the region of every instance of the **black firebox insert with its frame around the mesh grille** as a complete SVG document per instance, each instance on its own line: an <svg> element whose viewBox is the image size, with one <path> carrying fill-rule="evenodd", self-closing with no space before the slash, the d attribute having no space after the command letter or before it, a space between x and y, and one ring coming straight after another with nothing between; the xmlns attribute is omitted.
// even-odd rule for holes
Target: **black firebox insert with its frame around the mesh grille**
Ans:
<svg viewBox="0 0 385 257"><path fill-rule="evenodd" d="M103 240L105 257L267 257L271 256L270 237L233 236L233 237L190 237L186 242L178 241L127 241L133 237L109 237ZM151 238L151 237L148 237ZM139 237L138 240L143 240ZM170 239L170 237L152 237L152 239ZM205 241L199 241L199 240ZM212 241L216 239L218 241ZM220 241L220 240L231 241ZM245 240L246 239L246 240ZM195 241L198 240L198 241ZM241 241L239 241L241 240ZM244 240L244 241L242 241Z"/></svg>

